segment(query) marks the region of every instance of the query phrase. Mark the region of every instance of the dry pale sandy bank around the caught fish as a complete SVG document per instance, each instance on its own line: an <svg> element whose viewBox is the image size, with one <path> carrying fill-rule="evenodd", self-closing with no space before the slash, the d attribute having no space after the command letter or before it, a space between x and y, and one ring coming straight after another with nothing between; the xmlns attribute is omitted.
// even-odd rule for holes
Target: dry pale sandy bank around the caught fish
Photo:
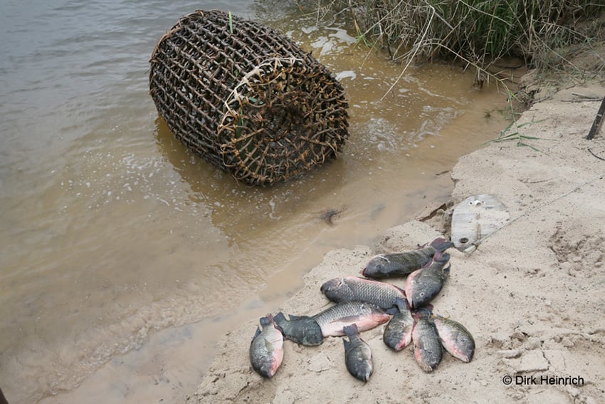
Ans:
<svg viewBox="0 0 605 404"><path fill-rule="evenodd" d="M384 326L362 333L372 347L374 374L362 383L347 372L342 338L321 346L285 341L278 373L263 380L248 360L258 319L228 333L191 401L199 403L599 403L605 397L605 157L604 130L585 140L604 83L562 90L527 110L520 133L540 151L493 143L462 157L452 172L451 204L490 193L510 220L472 254L451 253L451 275L433 300L435 312L463 323L476 341L462 363L444 354L424 373L411 347L395 353ZM451 206L450 204L450 206ZM430 210L430 209L429 209ZM320 285L356 275L379 252L414 249L448 236L448 212L385 229L374 247L339 249L305 276L305 287L276 307L315 314L327 299ZM444 225L445 223L445 225ZM392 281L402 286L404 279ZM505 384L510 376L510 385ZM549 383L544 378L576 379ZM580 380L579 378L582 378ZM582 383L583 382L583 383Z"/></svg>

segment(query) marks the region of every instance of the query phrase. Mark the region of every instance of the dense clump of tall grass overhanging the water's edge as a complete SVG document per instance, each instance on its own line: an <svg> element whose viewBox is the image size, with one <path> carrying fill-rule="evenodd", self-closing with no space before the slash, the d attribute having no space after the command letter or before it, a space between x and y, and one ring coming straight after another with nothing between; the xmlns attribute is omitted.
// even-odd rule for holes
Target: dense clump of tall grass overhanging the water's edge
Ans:
<svg viewBox="0 0 605 404"><path fill-rule="evenodd" d="M349 9L359 37L394 60L460 58L485 69L504 56L527 66L566 63L560 49L604 36L602 0L332 0ZM320 4L322 2L320 1ZM592 23L584 21L589 20Z"/></svg>

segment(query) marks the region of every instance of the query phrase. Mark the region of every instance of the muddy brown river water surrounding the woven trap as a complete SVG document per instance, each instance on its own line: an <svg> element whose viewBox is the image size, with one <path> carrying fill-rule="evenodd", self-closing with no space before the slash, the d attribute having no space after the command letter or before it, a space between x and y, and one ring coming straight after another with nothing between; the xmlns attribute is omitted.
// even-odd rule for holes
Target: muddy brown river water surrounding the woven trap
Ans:
<svg viewBox="0 0 605 404"><path fill-rule="evenodd" d="M10 403L183 402L221 334L275 311L331 249L374 245L446 201L458 157L506 125L502 89L474 90L460 68L411 68L386 94L402 66L357 43L346 14L317 24L315 2L165 3L1 6L0 387ZM350 105L339 160L251 188L174 139L147 93L147 60L195 9L273 26L337 74ZM340 211L331 225L328 209Z"/></svg>

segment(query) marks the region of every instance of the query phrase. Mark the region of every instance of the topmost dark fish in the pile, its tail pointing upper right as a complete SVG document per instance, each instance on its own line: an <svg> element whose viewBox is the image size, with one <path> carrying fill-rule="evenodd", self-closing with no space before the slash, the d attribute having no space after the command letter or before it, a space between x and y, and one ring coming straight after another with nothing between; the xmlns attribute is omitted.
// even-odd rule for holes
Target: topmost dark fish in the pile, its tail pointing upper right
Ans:
<svg viewBox="0 0 605 404"><path fill-rule="evenodd" d="M436 252L444 252L452 246L453 243L439 237L428 246L414 251L379 254L369 260L362 275L374 279L406 276L431 262Z"/></svg>

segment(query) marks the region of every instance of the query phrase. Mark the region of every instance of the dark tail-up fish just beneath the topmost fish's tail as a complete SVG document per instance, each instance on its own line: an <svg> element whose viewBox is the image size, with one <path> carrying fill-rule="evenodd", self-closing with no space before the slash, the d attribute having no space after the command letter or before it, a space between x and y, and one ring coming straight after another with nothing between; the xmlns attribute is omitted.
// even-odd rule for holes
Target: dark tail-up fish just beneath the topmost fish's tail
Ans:
<svg viewBox="0 0 605 404"><path fill-rule="evenodd" d="M450 274L446 266L450 254L436 252L433 261L412 272L406 279L406 296L411 309L418 309L439 294Z"/></svg>

